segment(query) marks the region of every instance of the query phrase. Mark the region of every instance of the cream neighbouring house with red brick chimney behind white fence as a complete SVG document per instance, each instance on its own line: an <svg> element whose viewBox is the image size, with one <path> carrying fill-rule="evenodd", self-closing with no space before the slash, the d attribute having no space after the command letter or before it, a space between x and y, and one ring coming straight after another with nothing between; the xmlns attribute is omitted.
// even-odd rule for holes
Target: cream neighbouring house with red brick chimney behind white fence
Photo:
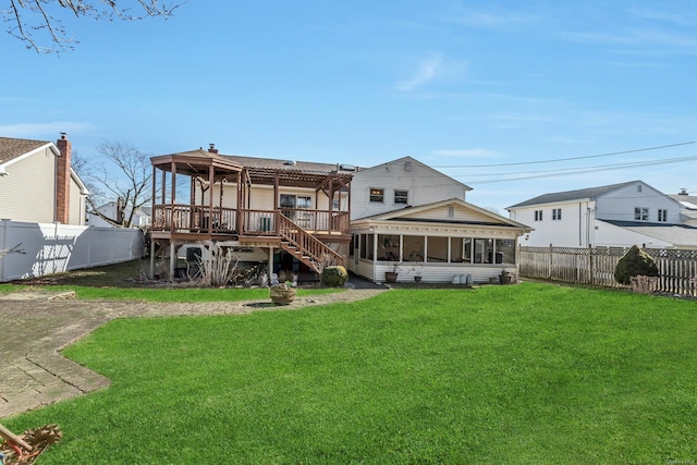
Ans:
<svg viewBox="0 0 697 465"><path fill-rule="evenodd" d="M71 143L0 137L0 219L85 224L85 184L71 168Z"/></svg>

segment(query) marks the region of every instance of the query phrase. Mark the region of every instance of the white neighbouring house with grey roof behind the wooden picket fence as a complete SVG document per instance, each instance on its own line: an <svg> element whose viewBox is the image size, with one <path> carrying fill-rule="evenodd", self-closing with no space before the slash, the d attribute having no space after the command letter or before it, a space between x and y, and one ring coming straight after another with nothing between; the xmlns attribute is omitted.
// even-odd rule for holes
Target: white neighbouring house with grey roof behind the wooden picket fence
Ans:
<svg viewBox="0 0 697 465"><path fill-rule="evenodd" d="M695 248L697 229L681 205L643 181L543 194L506 208L534 231L526 246Z"/></svg>

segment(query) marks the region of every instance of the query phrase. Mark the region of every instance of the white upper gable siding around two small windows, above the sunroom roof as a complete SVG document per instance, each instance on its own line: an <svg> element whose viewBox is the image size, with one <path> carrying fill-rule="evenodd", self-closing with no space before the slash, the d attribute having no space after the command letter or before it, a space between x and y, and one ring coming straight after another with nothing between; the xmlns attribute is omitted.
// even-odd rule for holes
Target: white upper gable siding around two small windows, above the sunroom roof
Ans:
<svg viewBox="0 0 697 465"><path fill-rule="evenodd" d="M409 163L407 168L407 164ZM370 188L382 188L384 200L370 201ZM394 203L394 191L406 191L407 204ZM351 183L351 219L449 198L465 200L467 187L413 159L399 159L354 173Z"/></svg>

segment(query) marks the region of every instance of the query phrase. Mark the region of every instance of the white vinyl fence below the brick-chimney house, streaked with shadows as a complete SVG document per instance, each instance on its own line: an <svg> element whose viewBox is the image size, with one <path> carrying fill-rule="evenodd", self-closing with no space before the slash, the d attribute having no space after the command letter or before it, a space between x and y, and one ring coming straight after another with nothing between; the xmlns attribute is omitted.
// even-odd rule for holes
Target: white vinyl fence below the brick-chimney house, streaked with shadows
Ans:
<svg viewBox="0 0 697 465"><path fill-rule="evenodd" d="M0 282L134 260L145 238L137 229L0 220L0 250L9 249L15 252L0 257Z"/></svg>

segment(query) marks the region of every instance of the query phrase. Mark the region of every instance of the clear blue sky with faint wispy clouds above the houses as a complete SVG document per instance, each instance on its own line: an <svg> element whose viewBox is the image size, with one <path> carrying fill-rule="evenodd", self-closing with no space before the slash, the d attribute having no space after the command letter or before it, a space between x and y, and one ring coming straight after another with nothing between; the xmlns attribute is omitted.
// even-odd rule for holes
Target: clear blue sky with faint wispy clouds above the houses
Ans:
<svg viewBox="0 0 697 465"><path fill-rule="evenodd" d="M90 159L112 140L362 167L408 155L503 215L637 179L697 194L688 0L191 0L167 21L64 17L74 51L0 35L1 136L64 131Z"/></svg>

